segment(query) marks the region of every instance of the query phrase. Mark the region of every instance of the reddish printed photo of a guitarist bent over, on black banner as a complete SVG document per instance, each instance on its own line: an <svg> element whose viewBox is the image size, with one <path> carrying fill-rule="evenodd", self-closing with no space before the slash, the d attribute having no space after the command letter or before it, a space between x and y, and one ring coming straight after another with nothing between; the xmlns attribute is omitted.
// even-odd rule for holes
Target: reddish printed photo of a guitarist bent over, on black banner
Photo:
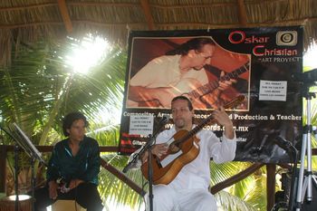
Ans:
<svg viewBox="0 0 317 211"><path fill-rule="evenodd" d="M126 108L168 109L178 95L197 110L215 110L237 96L249 110L251 56L228 51L212 36L134 37Z"/></svg>

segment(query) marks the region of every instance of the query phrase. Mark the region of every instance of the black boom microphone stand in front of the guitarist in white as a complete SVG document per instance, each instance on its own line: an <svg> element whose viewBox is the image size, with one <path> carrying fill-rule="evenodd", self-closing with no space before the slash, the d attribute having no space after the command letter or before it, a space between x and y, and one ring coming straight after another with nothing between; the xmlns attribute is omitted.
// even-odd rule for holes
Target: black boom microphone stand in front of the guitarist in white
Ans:
<svg viewBox="0 0 317 211"><path fill-rule="evenodd" d="M161 122L159 122L158 129L153 132L153 135L149 135L149 141L142 147L142 149L139 150L138 153L133 156L127 166L122 170L123 173L126 173L132 167L132 164L135 164L138 159L141 158L143 153L148 150L149 211L153 211L153 168L151 147L155 144L160 129L162 129L167 122L168 119L163 119Z"/></svg>

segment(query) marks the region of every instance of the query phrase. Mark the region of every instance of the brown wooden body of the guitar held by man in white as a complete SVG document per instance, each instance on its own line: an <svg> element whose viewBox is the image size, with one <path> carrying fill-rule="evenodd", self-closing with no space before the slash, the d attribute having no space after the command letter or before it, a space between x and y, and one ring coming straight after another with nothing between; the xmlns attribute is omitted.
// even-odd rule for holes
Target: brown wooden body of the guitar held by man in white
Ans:
<svg viewBox="0 0 317 211"><path fill-rule="evenodd" d="M174 141L169 145L168 154L160 159L155 155L151 157L153 168L153 184L168 185L179 173L179 171L189 162L197 158L199 153L199 144L196 137L191 137L178 144L178 139L187 135L187 130L179 130L174 136ZM180 149L175 152L175 147ZM143 163L141 171L144 177L148 177L148 161Z"/></svg>

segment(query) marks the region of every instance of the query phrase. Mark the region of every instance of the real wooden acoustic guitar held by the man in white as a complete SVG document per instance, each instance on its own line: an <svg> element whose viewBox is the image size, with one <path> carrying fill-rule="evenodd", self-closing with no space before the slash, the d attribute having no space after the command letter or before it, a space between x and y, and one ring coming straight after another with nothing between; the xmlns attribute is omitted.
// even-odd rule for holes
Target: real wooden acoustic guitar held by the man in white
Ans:
<svg viewBox="0 0 317 211"><path fill-rule="evenodd" d="M235 100L226 103L225 109L235 107L242 101L245 96L240 95ZM199 144L195 136L200 129L203 129L207 123L215 121L212 115L203 120L194 129L187 131L179 130L171 139L168 140L168 153L161 158L152 155L151 165L153 168L153 184L168 185L179 173L179 171L191 162L199 153ZM148 161L141 166L144 177L148 179Z"/></svg>

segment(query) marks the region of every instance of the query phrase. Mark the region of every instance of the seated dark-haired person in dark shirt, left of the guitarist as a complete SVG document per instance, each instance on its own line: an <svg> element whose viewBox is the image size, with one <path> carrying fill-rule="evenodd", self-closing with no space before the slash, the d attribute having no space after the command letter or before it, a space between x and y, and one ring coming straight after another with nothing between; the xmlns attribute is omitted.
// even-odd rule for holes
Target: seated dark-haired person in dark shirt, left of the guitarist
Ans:
<svg viewBox="0 0 317 211"><path fill-rule="evenodd" d="M66 115L62 129L67 139L58 142L47 168L47 186L35 190L34 210L46 210L58 199L72 199L87 211L101 211L97 140L85 136L89 125L81 112Z"/></svg>

